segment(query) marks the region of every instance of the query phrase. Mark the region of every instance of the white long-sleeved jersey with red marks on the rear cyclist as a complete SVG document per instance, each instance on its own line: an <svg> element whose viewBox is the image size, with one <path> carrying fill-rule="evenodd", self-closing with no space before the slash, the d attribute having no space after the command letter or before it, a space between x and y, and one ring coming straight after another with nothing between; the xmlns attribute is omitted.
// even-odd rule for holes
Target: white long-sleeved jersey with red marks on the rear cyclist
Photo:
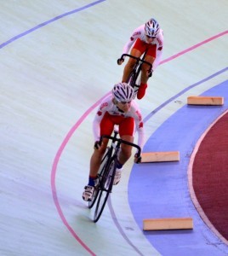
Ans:
<svg viewBox="0 0 228 256"><path fill-rule="evenodd" d="M129 50L131 49L137 38L140 38L141 41L148 44L145 36L145 24L134 29L134 32L132 33L128 42L123 47L123 54L128 54ZM157 38L155 38L151 42L151 44L157 44L157 56L155 61L153 62L153 70L155 70L155 68L159 65L160 61L162 60L163 31L161 28L158 32Z"/></svg>

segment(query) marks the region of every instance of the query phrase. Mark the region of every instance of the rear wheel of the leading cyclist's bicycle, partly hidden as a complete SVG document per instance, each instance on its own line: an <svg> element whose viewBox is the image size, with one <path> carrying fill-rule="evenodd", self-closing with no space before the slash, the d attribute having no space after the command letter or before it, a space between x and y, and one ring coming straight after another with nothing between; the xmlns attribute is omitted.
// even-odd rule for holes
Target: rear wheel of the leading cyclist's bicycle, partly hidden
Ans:
<svg viewBox="0 0 228 256"><path fill-rule="evenodd" d="M101 160L100 169L98 171L99 181L96 184L96 186L94 187L94 194L93 194L93 197L92 197L92 201L88 201L88 208L89 209L94 207L94 203L97 200L97 197L100 193L100 182L101 182L101 178L103 177L103 173L105 172L105 166L108 162L109 156L111 155L110 150L111 150L110 148L106 148L105 154L104 154L104 156Z"/></svg>

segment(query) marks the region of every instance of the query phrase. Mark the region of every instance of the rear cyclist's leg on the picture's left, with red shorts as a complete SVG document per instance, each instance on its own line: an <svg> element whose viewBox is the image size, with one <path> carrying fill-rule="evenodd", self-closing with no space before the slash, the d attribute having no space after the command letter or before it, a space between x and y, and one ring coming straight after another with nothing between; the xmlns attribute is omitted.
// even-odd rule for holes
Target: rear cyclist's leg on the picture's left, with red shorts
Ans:
<svg viewBox="0 0 228 256"><path fill-rule="evenodd" d="M134 55L135 57L140 57L144 52L145 52L145 43L138 38L133 48L131 49L130 55ZM133 58L128 59L128 63L126 64L123 70L122 82L127 82L128 76L132 72L135 62L136 60L134 60Z"/></svg>

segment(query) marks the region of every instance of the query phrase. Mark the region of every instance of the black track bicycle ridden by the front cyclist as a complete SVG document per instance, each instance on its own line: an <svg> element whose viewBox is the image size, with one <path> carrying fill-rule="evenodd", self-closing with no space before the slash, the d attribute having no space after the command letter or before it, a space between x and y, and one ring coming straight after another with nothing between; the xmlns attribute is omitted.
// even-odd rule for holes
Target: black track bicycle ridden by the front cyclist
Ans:
<svg viewBox="0 0 228 256"><path fill-rule="evenodd" d="M100 143L102 143L103 138L108 138L111 141L111 146L107 147L105 154L101 160L100 170L98 172L98 183L94 186L94 194L92 201L88 201L88 208L95 206L94 210L94 223L96 223L104 208L108 196L111 193L112 185L114 182L115 173L117 170L117 155L120 150L122 143L132 146L138 149L137 157L140 158L141 148L134 143L128 143L121 138L117 137L118 131L114 131L114 136L102 136L100 138Z"/></svg>

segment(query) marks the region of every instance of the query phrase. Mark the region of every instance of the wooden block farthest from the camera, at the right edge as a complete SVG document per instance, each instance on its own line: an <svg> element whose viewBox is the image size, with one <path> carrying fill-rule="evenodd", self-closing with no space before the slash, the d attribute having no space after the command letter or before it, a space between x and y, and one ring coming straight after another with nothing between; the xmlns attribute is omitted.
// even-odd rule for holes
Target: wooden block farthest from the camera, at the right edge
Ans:
<svg viewBox="0 0 228 256"><path fill-rule="evenodd" d="M219 96L188 96L189 105L223 105L224 97Z"/></svg>

